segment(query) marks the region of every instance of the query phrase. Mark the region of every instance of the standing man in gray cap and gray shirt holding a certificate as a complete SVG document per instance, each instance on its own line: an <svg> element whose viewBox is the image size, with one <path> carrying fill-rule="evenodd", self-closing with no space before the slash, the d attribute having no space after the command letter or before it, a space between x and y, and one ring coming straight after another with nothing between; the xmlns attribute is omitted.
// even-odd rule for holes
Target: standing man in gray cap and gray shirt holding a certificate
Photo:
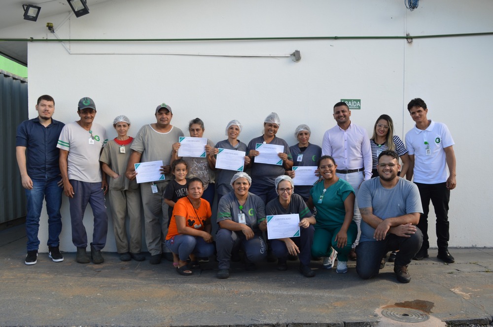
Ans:
<svg viewBox="0 0 493 327"><path fill-rule="evenodd" d="M173 255L164 243L168 234L168 205L162 200L166 186L171 180L171 157L173 145L183 136L181 129L171 124L173 112L166 103L156 108L156 122L141 127L130 149L132 153L128 160L125 176L133 180L136 178L135 164L163 160L161 171L166 178L161 181L141 183L141 198L144 208L145 243L151 254L149 263L161 263L161 255L173 261Z"/></svg>

